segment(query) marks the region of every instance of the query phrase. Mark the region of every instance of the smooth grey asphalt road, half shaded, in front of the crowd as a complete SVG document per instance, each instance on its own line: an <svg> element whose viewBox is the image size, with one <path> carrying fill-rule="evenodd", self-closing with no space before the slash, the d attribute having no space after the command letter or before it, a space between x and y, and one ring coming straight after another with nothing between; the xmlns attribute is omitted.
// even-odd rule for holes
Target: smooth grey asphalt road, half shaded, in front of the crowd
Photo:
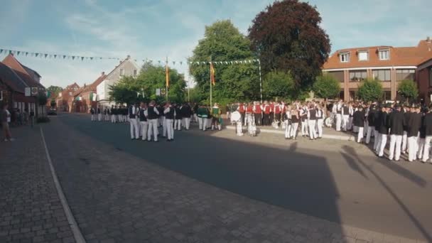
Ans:
<svg viewBox="0 0 432 243"><path fill-rule="evenodd" d="M131 141L129 124L91 122L82 114L59 114L52 123L55 126L45 134L54 158L73 153L68 150L68 137L62 136L68 129L247 198L354 227L432 242L429 164L377 158L354 142L295 142L264 134L238 138L233 131L195 129L176 131L173 143L162 139L153 143ZM85 148L91 150L92 144L85 144ZM67 176L61 170L58 173L60 181ZM65 194L68 196L68 191Z"/></svg>

